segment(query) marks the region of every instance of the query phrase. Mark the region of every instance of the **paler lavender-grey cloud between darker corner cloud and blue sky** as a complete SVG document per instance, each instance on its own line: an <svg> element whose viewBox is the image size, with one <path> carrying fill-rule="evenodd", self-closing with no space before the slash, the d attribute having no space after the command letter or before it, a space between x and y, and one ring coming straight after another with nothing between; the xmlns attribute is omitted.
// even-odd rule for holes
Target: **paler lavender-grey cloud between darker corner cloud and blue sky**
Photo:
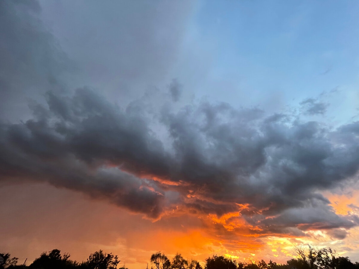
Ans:
<svg viewBox="0 0 359 269"><path fill-rule="evenodd" d="M172 79L196 6L188 0L40 3L41 18L77 68L71 85L91 85L120 104Z"/></svg>

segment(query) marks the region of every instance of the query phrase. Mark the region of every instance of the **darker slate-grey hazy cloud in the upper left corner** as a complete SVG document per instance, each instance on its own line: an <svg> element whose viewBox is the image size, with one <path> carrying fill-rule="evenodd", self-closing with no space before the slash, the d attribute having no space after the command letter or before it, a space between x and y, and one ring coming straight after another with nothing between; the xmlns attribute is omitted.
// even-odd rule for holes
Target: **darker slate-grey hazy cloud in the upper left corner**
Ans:
<svg viewBox="0 0 359 269"><path fill-rule="evenodd" d="M0 118L18 120L29 113L27 99L63 90L60 77L71 66L39 19L37 1L1 1L0 9Z"/></svg>

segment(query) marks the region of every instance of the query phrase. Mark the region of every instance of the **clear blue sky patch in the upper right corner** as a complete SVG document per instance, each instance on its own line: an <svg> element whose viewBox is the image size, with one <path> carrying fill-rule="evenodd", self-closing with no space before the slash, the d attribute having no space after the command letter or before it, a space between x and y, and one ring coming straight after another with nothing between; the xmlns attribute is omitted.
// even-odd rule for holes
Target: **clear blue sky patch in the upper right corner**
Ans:
<svg viewBox="0 0 359 269"><path fill-rule="evenodd" d="M288 104L356 91L358 10L356 1L202 1L193 23L214 58L210 79L229 82L220 98Z"/></svg>

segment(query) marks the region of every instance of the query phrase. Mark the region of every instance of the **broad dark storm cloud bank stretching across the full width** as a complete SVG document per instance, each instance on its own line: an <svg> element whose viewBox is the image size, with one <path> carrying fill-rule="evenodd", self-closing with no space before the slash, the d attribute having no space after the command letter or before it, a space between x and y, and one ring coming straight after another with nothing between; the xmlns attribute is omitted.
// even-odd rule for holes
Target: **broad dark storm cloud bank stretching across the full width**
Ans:
<svg viewBox="0 0 359 269"><path fill-rule="evenodd" d="M218 216L241 211L248 223L267 233L358 224L354 215L335 214L318 193L358 172L358 122L332 129L226 103L174 110L165 99L149 107L150 96L145 96L120 107L88 88L61 93L53 89L61 88L56 80L63 70L57 57L61 50L36 19L39 6L1 5L6 10L1 22L10 29L1 33L6 52L1 56L14 66L9 71L0 63L4 93L15 88L23 93L33 85L41 85L39 92L50 89L46 103L31 103L30 119L1 123L1 179L46 181L151 218L178 208ZM24 21L14 20L17 16ZM180 88L172 81L172 101L179 99ZM302 105L310 115L326 109L315 99Z"/></svg>

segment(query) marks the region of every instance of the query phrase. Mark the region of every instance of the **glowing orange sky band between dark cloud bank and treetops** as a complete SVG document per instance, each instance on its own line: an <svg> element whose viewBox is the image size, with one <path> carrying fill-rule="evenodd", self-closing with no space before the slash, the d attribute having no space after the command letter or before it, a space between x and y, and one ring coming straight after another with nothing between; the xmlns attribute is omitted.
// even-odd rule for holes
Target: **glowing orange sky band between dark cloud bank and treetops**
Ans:
<svg viewBox="0 0 359 269"><path fill-rule="evenodd" d="M359 204L356 193L325 194L336 213L348 214ZM85 260L103 249L120 257L129 268L144 268L151 254L162 251L172 258L178 251L187 259L204 261L212 254L237 260L269 259L285 262L296 244L334 247L340 255L355 260L359 232L349 230L344 240L333 239L328 231L307 231L306 237L255 234L237 212L215 215L167 214L151 221L106 201L91 200L81 193L47 184L5 185L0 188L3 216L0 249L28 263L43 251L58 248L72 259ZM349 212L348 212L349 211ZM251 233L251 234L250 234ZM350 250L353 249L353 250Z"/></svg>

